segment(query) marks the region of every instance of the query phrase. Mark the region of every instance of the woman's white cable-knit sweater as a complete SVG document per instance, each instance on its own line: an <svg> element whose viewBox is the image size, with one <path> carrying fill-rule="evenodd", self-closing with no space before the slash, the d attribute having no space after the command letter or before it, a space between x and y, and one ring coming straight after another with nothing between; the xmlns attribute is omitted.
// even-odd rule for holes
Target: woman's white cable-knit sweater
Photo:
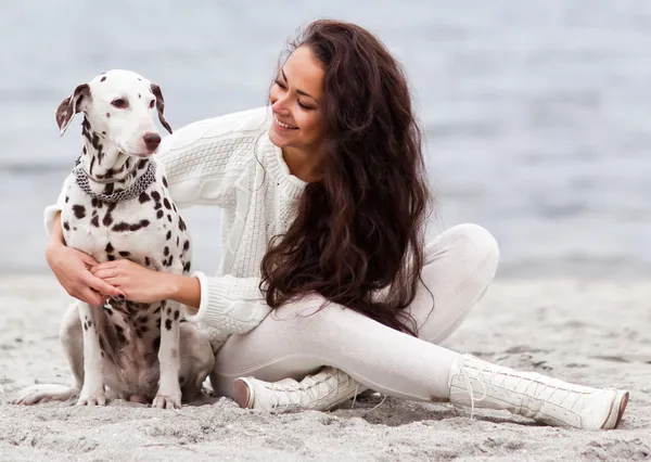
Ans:
<svg viewBox="0 0 651 462"><path fill-rule="evenodd" d="M258 288L269 240L286 231L305 182L292 176L279 147L269 141L266 107L190 124L164 138L156 158L179 208L222 209L222 259L217 275L194 275L201 306L189 321L209 328L213 346L255 328L270 311ZM58 204L44 210L52 229ZM192 230L190 230L192 231Z"/></svg>

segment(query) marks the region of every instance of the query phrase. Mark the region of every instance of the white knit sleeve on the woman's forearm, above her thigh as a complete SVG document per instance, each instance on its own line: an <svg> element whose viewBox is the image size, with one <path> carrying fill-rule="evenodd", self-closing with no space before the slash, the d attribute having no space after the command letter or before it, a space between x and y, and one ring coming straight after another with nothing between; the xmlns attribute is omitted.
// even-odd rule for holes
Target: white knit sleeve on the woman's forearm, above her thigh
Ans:
<svg viewBox="0 0 651 462"><path fill-rule="evenodd" d="M222 334L243 334L257 326L271 311L258 285L258 278L230 274L208 278L193 274L201 285L201 305L190 322L202 322Z"/></svg>

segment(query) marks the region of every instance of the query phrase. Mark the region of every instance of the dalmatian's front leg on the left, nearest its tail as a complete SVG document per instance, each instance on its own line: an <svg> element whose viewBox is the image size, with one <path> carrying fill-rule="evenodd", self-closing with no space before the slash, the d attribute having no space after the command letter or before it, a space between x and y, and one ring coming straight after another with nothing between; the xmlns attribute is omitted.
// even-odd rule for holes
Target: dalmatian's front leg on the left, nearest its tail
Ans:
<svg viewBox="0 0 651 462"><path fill-rule="evenodd" d="M77 406L106 405L100 334L92 311L93 308L90 305L79 304L79 319L84 329L84 385Z"/></svg>

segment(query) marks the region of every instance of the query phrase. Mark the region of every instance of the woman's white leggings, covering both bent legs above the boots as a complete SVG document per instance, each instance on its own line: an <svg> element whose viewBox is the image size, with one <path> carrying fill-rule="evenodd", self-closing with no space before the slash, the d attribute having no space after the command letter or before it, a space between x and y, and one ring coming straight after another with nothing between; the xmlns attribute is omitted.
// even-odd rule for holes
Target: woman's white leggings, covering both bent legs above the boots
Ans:
<svg viewBox="0 0 651 462"><path fill-rule="evenodd" d="M213 386L217 394L232 396L233 380L240 376L302 380L333 365L390 396L448 398L448 372L458 354L437 344L484 295L498 259L497 243L484 228L450 228L426 246L426 287L419 287L408 308L418 338L337 305L315 312L322 298L311 296L285 304L253 331L231 336L217 354Z"/></svg>

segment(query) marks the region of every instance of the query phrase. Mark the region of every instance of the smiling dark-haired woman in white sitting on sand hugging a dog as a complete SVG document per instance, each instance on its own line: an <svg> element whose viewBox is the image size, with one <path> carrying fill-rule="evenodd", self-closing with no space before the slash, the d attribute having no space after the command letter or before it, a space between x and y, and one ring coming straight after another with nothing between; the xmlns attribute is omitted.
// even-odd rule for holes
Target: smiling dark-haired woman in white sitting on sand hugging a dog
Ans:
<svg viewBox="0 0 651 462"><path fill-rule="evenodd" d="M498 248L472 224L424 244L420 133L405 76L376 38L346 23L308 25L269 100L191 124L159 149L177 205L224 208L220 275L97 265L62 244L50 207L47 257L66 291L94 304L116 291L186 304L220 347L213 386L243 407L329 409L370 388L578 428L617 425L627 392L437 346L486 291Z"/></svg>

